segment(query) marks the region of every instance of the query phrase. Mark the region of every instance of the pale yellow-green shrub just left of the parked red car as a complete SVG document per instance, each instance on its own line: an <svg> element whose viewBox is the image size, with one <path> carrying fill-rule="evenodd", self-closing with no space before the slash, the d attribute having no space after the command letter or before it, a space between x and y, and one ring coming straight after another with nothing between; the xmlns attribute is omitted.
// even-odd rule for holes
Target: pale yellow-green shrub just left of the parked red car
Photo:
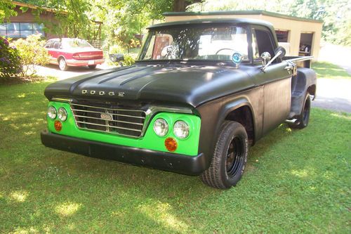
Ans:
<svg viewBox="0 0 351 234"><path fill-rule="evenodd" d="M18 39L13 45L18 49L21 57L22 77L30 77L37 73L36 65L46 65L49 62L48 51L44 48L45 41L41 34L33 34L27 39Z"/></svg>

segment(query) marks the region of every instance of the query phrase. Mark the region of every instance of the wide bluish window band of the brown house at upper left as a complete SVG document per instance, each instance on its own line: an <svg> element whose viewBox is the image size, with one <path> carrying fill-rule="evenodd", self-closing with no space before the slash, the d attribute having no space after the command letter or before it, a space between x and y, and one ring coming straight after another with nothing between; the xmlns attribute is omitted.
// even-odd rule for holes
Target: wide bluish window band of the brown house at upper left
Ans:
<svg viewBox="0 0 351 234"><path fill-rule="evenodd" d="M32 34L44 34L44 25L35 22L5 22L0 24L0 36L3 37L28 37Z"/></svg>

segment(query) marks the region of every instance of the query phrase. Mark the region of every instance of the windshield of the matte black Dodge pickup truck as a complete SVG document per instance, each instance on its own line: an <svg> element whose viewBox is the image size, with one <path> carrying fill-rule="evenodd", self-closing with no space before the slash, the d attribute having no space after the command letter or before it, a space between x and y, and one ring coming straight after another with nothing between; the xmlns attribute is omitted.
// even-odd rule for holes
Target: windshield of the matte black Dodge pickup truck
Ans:
<svg viewBox="0 0 351 234"><path fill-rule="evenodd" d="M150 30L138 60L232 60L248 58L245 27L176 27Z"/></svg>

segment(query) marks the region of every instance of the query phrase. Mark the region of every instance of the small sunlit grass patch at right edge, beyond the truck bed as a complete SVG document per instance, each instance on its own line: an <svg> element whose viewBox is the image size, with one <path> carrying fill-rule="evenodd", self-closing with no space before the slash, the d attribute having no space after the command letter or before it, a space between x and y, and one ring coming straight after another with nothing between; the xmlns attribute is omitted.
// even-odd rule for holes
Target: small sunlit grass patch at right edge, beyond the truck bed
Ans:
<svg viewBox="0 0 351 234"><path fill-rule="evenodd" d="M317 78L327 79L351 79L343 67L328 62L312 63L312 69L317 73Z"/></svg>

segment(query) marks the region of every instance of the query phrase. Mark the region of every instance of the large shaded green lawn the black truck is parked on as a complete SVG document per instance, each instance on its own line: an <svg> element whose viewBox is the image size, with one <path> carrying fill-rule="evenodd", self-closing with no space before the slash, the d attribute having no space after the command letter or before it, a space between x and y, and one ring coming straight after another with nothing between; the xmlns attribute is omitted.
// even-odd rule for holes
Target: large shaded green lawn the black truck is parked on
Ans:
<svg viewBox="0 0 351 234"><path fill-rule="evenodd" d="M237 187L41 145L48 83L0 86L0 233L350 233L351 115L313 109L249 150Z"/></svg>

